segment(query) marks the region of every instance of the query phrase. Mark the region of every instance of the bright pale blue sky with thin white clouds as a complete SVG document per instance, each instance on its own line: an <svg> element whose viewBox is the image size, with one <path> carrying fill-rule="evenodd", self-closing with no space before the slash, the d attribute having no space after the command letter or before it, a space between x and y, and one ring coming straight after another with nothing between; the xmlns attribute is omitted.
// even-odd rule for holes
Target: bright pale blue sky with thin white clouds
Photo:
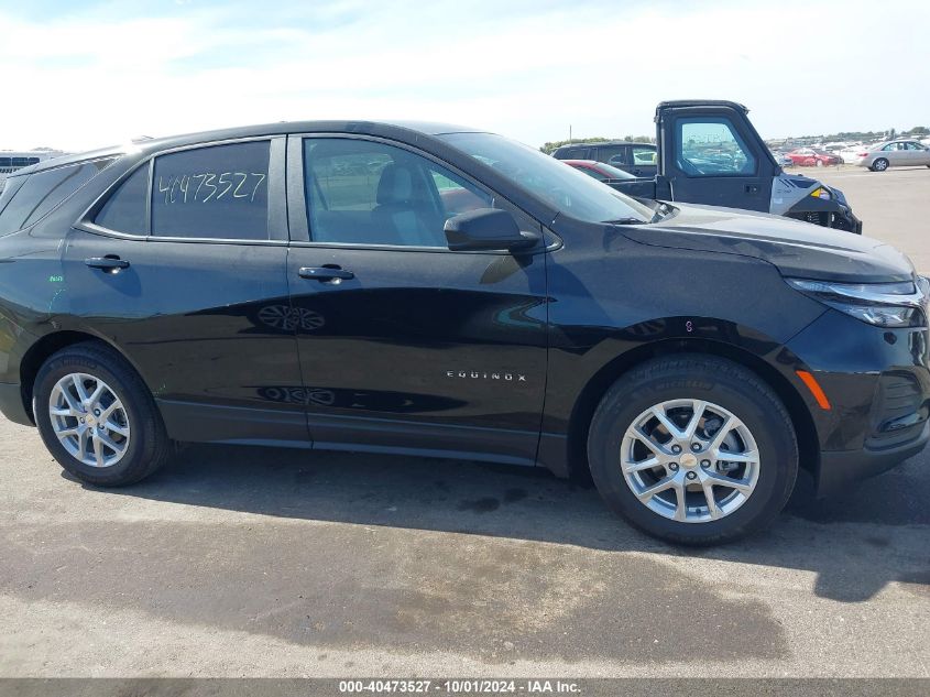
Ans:
<svg viewBox="0 0 930 697"><path fill-rule="evenodd" d="M654 134L732 99L765 138L930 126L927 0L0 0L0 149L417 119Z"/></svg>

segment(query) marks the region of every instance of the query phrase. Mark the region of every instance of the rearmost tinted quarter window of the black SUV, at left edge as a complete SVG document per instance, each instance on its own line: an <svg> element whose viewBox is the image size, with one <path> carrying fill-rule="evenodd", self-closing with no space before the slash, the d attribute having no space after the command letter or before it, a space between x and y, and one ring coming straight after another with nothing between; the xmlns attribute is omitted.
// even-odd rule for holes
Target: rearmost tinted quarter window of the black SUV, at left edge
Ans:
<svg viewBox="0 0 930 697"><path fill-rule="evenodd" d="M9 235L37 222L112 162L83 162L24 177L25 182L9 198L4 192L7 204L0 211L0 235Z"/></svg>

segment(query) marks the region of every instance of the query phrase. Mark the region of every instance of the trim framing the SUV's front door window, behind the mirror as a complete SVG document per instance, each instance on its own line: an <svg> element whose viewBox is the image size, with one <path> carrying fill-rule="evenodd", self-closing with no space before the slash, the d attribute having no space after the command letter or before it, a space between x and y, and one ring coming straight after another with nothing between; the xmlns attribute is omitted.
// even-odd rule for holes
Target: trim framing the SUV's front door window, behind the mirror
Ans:
<svg viewBox="0 0 930 697"><path fill-rule="evenodd" d="M519 215L532 220L535 226L539 226L539 230L544 231L544 243L538 249L527 250L527 254L545 253L551 249L561 247L561 240L550 232L546 231L546 227L539 222L535 217L516 206L506 197L501 196L486 185L475 181L475 178L466 172L462 172L457 166L452 165L436 155L418 150L398 140L390 138L382 138L379 135L369 135L364 133L342 133L342 132L318 132L318 133L291 133L287 135L287 218L288 228L291 230L291 244L299 248L319 248L319 249L365 249L374 251L406 251L406 252L434 252L438 254L491 254L496 257L508 257L511 252L504 250L481 250L481 251L453 251L448 247L423 247L413 244L374 244L374 243L359 243L359 242L319 242L310 237L310 229L308 222L308 209L306 199L306 188L304 185L304 140L305 139L342 139L342 140L363 140L374 143L383 143L393 148L405 150L414 155L418 155L428 160L444 170L448 170L456 176L468 182L479 190L482 190L491 196L492 203L502 203L505 208L512 214L517 211ZM556 238L556 242L546 242L546 238Z"/></svg>

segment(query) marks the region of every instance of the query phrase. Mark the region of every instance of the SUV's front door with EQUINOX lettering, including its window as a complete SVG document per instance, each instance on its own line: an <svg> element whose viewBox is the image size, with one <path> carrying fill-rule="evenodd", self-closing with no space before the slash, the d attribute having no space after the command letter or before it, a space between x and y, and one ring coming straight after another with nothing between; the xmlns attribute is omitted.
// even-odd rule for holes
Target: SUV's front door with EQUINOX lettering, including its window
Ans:
<svg viewBox="0 0 930 697"><path fill-rule="evenodd" d="M304 183L287 279L316 447L534 462L546 255L451 252L444 235L453 215L506 205L376 139L292 137L288 179Z"/></svg>

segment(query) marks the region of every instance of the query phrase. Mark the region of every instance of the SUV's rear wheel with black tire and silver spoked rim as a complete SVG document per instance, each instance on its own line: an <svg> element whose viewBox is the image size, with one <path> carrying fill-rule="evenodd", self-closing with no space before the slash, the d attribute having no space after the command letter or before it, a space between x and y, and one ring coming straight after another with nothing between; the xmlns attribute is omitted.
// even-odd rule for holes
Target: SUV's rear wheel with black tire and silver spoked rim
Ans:
<svg viewBox="0 0 930 697"><path fill-rule="evenodd" d="M102 384L96 400L99 409L87 409L76 399L77 382L91 397ZM102 344L76 344L45 361L33 385L32 409L45 447L66 471L88 484L135 483L164 465L172 453L145 383L117 351ZM96 423L95 414L105 423ZM59 431L81 431L86 436L73 434L63 440ZM102 433L98 435L98 431ZM103 445L105 438L110 446Z"/></svg>

